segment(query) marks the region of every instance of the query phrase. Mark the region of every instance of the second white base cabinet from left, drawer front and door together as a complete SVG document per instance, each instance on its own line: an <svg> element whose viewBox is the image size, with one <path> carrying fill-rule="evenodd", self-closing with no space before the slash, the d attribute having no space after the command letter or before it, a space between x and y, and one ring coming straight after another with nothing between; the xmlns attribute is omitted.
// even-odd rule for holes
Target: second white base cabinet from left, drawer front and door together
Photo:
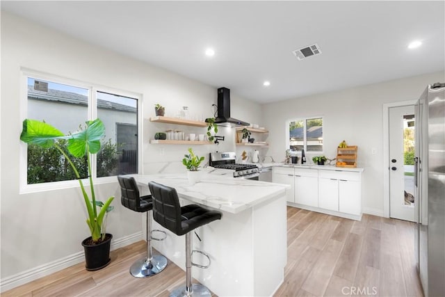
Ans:
<svg viewBox="0 0 445 297"><path fill-rule="evenodd" d="M294 175L295 202L318 207L318 170L295 168Z"/></svg>

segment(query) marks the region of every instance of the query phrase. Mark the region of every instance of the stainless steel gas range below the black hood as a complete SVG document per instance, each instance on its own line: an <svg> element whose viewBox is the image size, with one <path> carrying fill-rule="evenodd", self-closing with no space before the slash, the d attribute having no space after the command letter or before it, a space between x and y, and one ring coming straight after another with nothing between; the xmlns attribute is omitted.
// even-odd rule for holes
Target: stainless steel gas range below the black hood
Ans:
<svg viewBox="0 0 445 297"><path fill-rule="evenodd" d="M258 167L250 164L235 163L235 152L211 152L209 160L211 167L231 170L234 177L258 180Z"/></svg>

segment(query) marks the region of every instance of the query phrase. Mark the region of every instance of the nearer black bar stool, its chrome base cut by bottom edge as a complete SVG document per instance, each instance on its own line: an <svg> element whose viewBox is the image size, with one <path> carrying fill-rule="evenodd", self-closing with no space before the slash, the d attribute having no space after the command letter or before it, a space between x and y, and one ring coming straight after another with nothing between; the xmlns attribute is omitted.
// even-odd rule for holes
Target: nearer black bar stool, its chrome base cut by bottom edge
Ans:
<svg viewBox="0 0 445 297"><path fill-rule="evenodd" d="M191 266L207 268L210 265L210 257L199 250L191 251L191 231L213 220L220 220L222 214L219 211L209 211L196 204L181 207L175 188L156 182L149 182L148 186L152 193L154 220L178 236L186 234L186 286L174 289L170 296L211 296L207 287L202 284L192 284ZM209 259L209 265L202 266L193 263L193 252L200 252L206 256Z"/></svg>

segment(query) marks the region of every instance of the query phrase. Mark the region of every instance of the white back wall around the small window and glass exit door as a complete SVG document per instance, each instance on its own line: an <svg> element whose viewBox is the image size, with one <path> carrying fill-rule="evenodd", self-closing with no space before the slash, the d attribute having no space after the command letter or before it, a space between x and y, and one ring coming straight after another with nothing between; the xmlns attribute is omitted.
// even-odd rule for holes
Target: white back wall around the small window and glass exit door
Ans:
<svg viewBox="0 0 445 297"><path fill-rule="evenodd" d="M364 168L362 207L383 214L382 105L417 99L428 83L437 81L445 81L443 72L264 104L264 125L270 131L269 154L275 160L284 160L286 120L322 115L323 154L335 158L343 140L358 145L357 166ZM376 154L371 154L373 148ZM306 156L312 163L313 155Z"/></svg>

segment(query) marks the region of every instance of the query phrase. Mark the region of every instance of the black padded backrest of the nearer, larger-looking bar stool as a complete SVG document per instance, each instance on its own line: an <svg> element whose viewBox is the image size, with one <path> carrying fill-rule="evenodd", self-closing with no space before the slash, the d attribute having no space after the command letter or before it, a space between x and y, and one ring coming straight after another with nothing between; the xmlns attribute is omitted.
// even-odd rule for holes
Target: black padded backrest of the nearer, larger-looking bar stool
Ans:
<svg viewBox="0 0 445 297"><path fill-rule="evenodd" d="M175 234L181 233L181 205L175 188L156 182L148 187L153 199L153 218Z"/></svg>

